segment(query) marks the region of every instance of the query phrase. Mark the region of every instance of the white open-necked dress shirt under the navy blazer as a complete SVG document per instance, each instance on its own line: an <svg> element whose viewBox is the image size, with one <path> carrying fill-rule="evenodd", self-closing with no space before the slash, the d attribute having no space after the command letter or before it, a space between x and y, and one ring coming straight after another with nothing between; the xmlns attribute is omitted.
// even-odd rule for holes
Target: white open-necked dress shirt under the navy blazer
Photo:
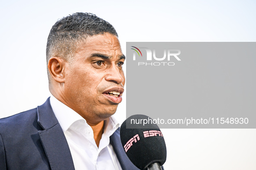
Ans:
<svg viewBox="0 0 256 170"><path fill-rule="evenodd" d="M112 145L112 135L119 123L112 116L104 121L99 148L93 130L82 116L51 96L50 103L68 141L76 170L122 170Z"/></svg>

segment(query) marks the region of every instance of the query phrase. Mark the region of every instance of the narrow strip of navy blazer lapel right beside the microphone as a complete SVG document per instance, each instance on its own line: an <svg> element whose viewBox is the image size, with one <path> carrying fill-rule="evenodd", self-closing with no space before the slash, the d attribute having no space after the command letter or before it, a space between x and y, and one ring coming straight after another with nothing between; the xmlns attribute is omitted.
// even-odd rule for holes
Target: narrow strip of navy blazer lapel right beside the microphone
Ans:
<svg viewBox="0 0 256 170"><path fill-rule="evenodd" d="M113 146L115 153L117 154L118 161L123 170L139 170L127 157L121 140L120 140L120 128L118 128L113 135L110 136L110 144Z"/></svg>

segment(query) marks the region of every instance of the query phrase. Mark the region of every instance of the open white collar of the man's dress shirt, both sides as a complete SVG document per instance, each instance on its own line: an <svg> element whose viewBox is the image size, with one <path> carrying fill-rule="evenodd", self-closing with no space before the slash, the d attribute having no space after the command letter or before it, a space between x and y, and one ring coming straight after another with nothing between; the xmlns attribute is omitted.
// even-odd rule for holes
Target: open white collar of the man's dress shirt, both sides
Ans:
<svg viewBox="0 0 256 170"><path fill-rule="evenodd" d="M66 132L68 128L78 120L82 120L84 121L84 123L87 123L82 116L80 116L67 105L63 104L61 101L58 101L58 99L56 99L52 95L50 98L50 103L53 113L58 119L58 122L62 127L63 132ZM104 121L104 134L110 136L117 130L118 127L119 123L113 116L111 116Z"/></svg>

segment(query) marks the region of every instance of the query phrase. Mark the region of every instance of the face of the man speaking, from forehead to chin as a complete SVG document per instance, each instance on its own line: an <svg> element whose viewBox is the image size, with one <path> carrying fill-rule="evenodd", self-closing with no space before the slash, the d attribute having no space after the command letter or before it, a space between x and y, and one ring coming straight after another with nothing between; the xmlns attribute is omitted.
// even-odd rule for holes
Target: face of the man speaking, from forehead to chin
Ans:
<svg viewBox="0 0 256 170"><path fill-rule="evenodd" d="M88 37L66 67L63 85L68 107L91 123L113 115L122 101L124 60L115 35Z"/></svg>

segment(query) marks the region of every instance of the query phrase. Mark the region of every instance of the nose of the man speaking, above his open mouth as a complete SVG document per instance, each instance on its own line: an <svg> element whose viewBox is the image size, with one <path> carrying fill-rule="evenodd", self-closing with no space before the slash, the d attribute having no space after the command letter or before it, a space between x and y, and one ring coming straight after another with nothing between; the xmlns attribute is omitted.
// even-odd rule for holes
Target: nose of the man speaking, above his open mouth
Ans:
<svg viewBox="0 0 256 170"><path fill-rule="evenodd" d="M114 82L117 84L120 84L123 82L123 77L120 74L120 69L115 64L112 64L110 68L108 68L107 75L105 76L105 80L109 82Z"/></svg>

